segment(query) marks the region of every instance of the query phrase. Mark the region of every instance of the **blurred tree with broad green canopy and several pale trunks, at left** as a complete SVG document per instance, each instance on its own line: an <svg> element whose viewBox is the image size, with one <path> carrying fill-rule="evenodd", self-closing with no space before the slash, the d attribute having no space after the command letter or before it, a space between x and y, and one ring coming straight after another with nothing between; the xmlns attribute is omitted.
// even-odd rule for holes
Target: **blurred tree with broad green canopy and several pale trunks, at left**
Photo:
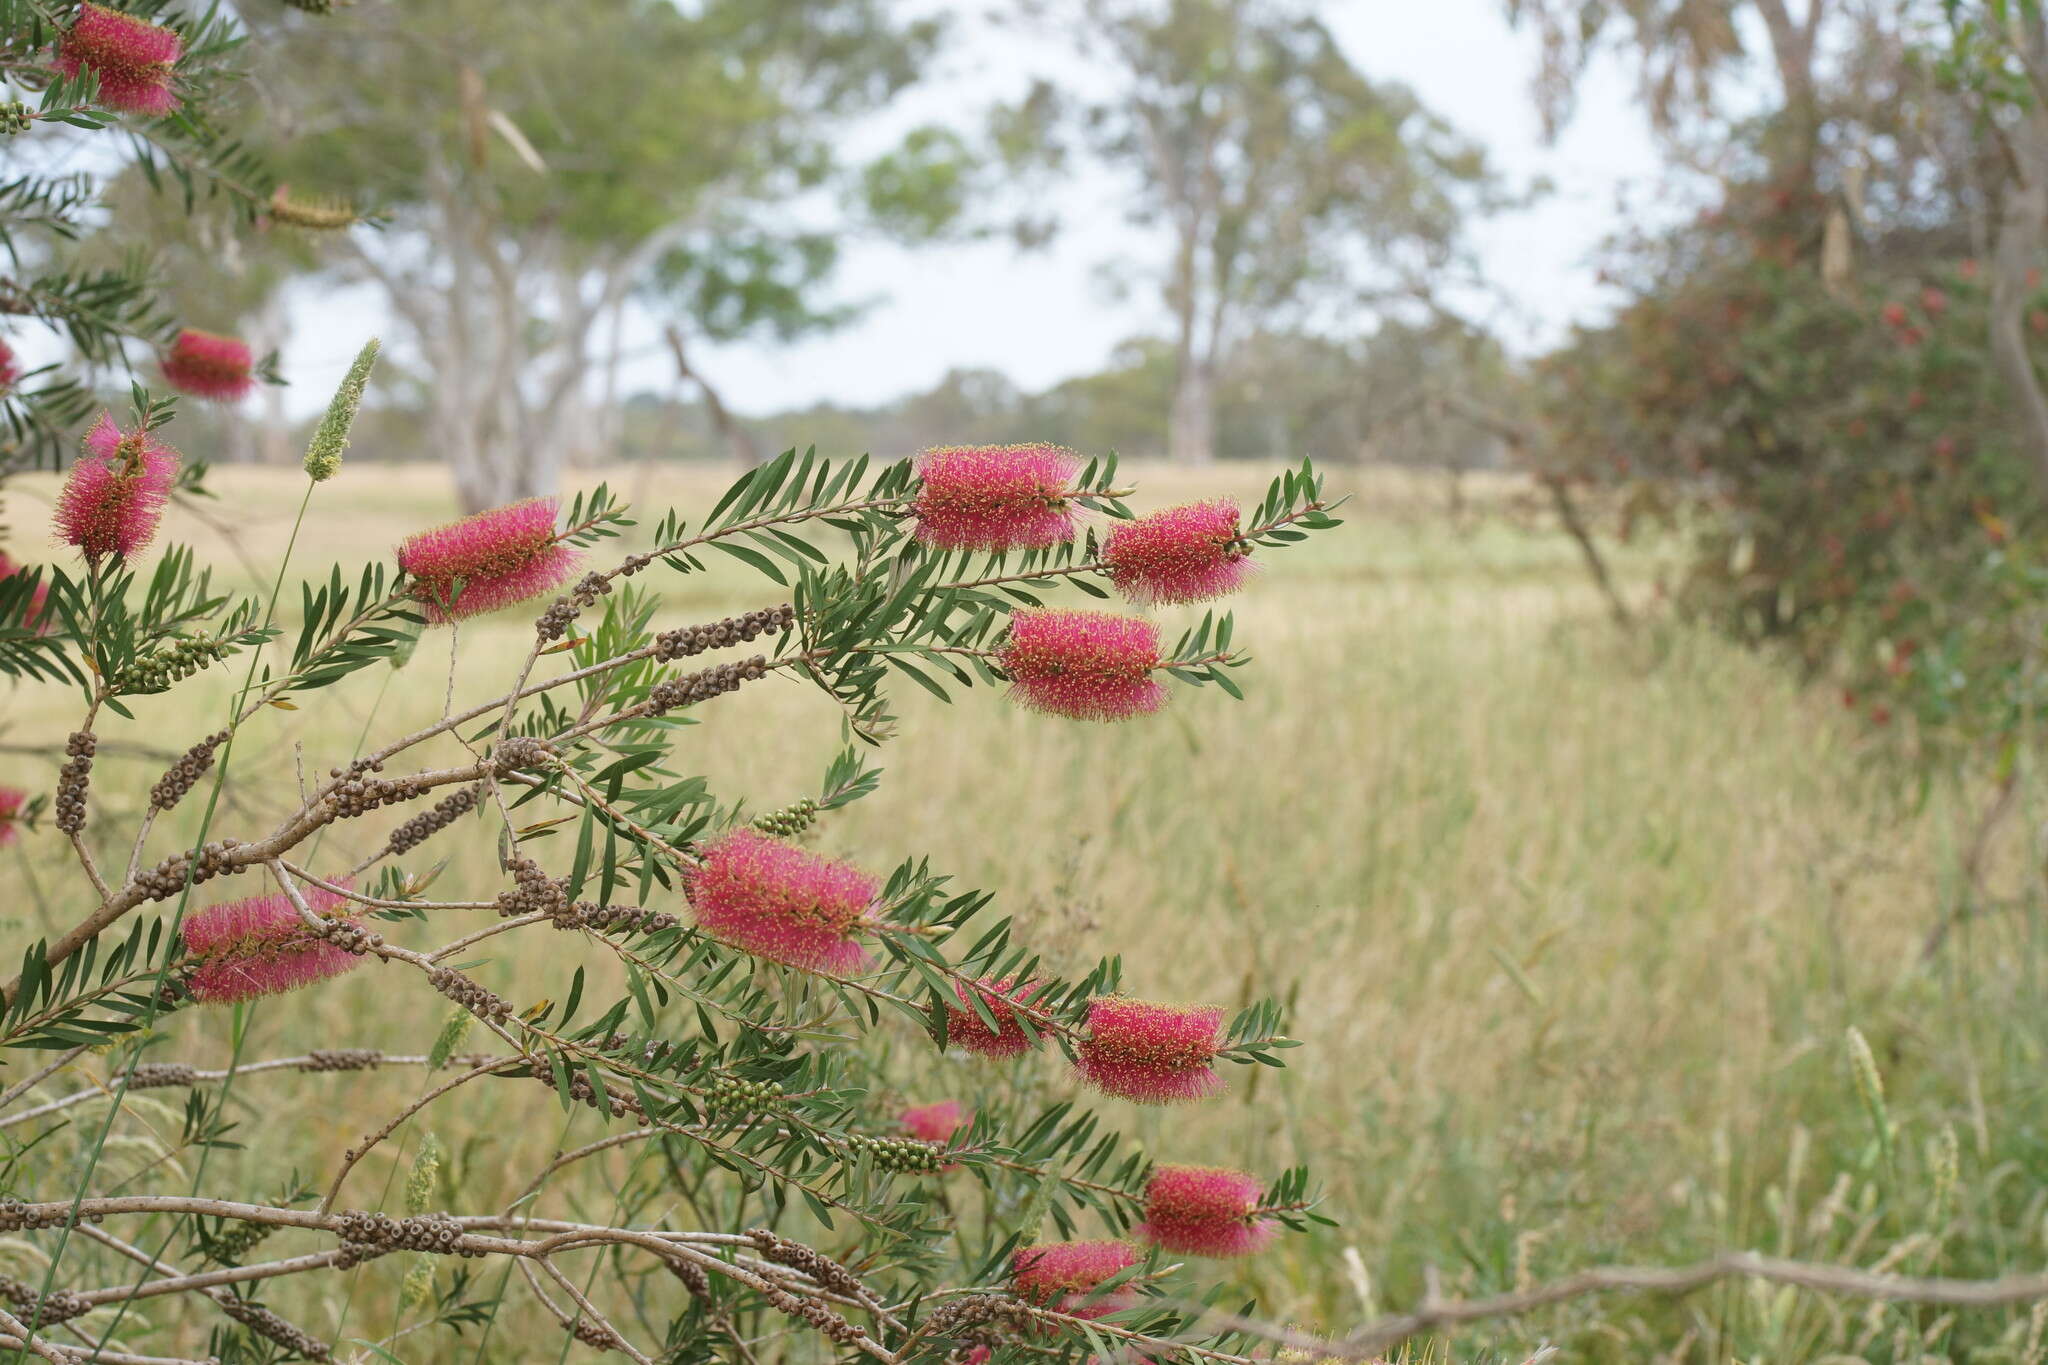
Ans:
<svg viewBox="0 0 2048 1365"><path fill-rule="evenodd" d="M903 90L938 37L887 0L436 0L360 23L358 61L287 41L289 164L389 215L330 264L403 323L432 444L473 508L551 491L598 444L590 377L637 289L705 309L688 321L707 336L834 319L805 299L831 264L817 237L739 225L850 188L846 121Z"/></svg>

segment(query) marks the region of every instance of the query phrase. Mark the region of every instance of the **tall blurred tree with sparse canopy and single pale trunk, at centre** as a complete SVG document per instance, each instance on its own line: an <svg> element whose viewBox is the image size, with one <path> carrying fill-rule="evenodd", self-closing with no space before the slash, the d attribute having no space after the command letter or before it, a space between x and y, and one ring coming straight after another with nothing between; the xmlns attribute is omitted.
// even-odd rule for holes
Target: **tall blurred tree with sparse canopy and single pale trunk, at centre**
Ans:
<svg viewBox="0 0 2048 1365"><path fill-rule="evenodd" d="M1116 68L1071 96L1085 141L1165 233L1174 319L1167 448L1217 452L1217 391L1253 332L1358 315L1444 272L1487 188L1481 151L1397 84L1368 80L1284 0L1075 0L1055 16Z"/></svg>

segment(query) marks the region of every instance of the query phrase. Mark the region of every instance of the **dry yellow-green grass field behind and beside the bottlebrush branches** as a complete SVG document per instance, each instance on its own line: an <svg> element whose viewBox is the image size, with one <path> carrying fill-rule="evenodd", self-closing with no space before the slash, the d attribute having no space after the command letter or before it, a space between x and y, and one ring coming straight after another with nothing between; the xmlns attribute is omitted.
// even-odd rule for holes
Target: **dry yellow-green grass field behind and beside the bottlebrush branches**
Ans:
<svg viewBox="0 0 2048 1365"><path fill-rule="evenodd" d="M635 489L635 479L614 483L643 508L700 508L723 483L662 475ZM1260 483L1262 471L1143 471L1137 505ZM1919 792L1829 696L1704 632L1653 624L1624 639L1567 540L1487 512L1499 487L1452 526L1436 485L1333 475L1346 483L1350 524L1276 557L1237 604L1239 639L1257 655L1245 702L1184 692L1153 722L1087 729L979 690L950 708L905 690L883 790L836 817L821 847L877 866L930 853L965 884L995 888L1057 964L1126 954L1143 995L1292 1003L1290 1031L1305 1046L1288 1070L1233 1068L1223 1101L1118 1115L1174 1158L1315 1169L1341 1226L1284 1240L1241 1271L1276 1318L1350 1326L1411 1304L1425 1267L1444 1293L1464 1295L1735 1246L1911 1273L2038 1269L2048 1257L2040 919L2032 909L1985 917L1935 962L1919 952L1962 894L1960 849L1987 784ZM174 516L176 538L197 540L227 579L268 575L303 481L229 469L217 489L217 516L248 563L188 518ZM8 520L39 526L47 491L20 485ZM293 567L354 569L449 512L434 471L350 465L319 491ZM1649 569L1647 557L1622 563L1636 596L1649 596ZM737 577L657 585L670 624L764 602ZM518 612L463 626L457 702L487 696L528 639ZM317 708L266 714L238 763L268 769L285 796L295 753L326 772L365 733L432 720L449 686L449 636L432 634L399 673L379 667L322 694ZM143 698L133 726L102 733L182 749L217 724L225 690L190 696ZM63 690L0 698L10 747L61 741L74 722L76 696ZM778 686L707 708L684 753L717 790L780 804L815 790L834 745L836 714L821 698ZM12 749L0 763L0 784L39 790L55 769ZM127 827L119 802L131 817L137 782L158 769L102 761L100 825ZM2036 907L2032 776L2021 790L1991 882ZM215 829L246 833L264 812L260 802L229 808ZM352 862L387 825L338 829L322 860ZM494 890L483 827L463 829L467 843L434 847L453 860L438 890ZM78 905L55 841L25 847L20 862L0 864L12 941ZM172 835L152 847L174 847ZM532 935L481 974L524 1001L559 993L565 970L559 945ZM436 1001L397 1007L391 982L362 970L262 1005L248 1017L244 1058L424 1050ZM1851 1025L1884 1072L1884 1142L1849 1085ZM178 1015L174 1031L186 1060L227 1056L227 1015ZM201 1056L193 1038L205 1038ZM928 1048L897 1052L903 1095L973 1099L991 1085ZM1042 1066L1051 1076L1053 1062ZM82 1066L51 1093L94 1074L102 1066ZM328 1169L371 1115L418 1089L418 1072L248 1078L238 1087L246 1150L215 1152L209 1171L229 1187L283 1193L293 1162ZM588 1113L565 1121L524 1087L465 1095L426 1128L453 1144L444 1177L469 1205L504 1201L555 1148L596 1132ZM174 1091L137 1097L100 1183L166 1169L188 1177L199 1156L180 1148L178 1130ZM1939 1175L1946 1132L1960 1150L1952 1189ZM53 1150L74 1138L57 1134ZM344 1203L393 1205L414 1140L365 1162ZM588 1162L543 1212L604 1214L629 1160ZM297 1242L285 1234L276 1246ZM20 1240L0 1248L31 1254ZM393 1257L301 1277L274 1304L330 1338L381 1338L401 1324L403 1269ZM197 1349L205 1326L145 1304L123 1336L139 1351ZM508 1316L498 1332L485 1359L561 1349L532 1316ZM514 1347L522 1332L537 1334ZM2038 1345L2025 1310L1866 1312L1724 1285L1683 1302L1579 1300L1473 1328L1438 1355L1520 1361L1554 1340L1565 1359L1593 1361L2038 1361L2030 1334ZM391 1351L477 1359L477 1334L459 1345L399 1336Z"/></svg>

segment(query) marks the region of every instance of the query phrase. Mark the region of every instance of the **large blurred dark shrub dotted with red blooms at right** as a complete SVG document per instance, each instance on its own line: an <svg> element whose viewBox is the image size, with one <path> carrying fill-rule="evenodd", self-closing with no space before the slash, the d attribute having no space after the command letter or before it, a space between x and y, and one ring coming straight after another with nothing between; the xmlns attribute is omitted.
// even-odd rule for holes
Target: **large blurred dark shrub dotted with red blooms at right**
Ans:
<svg viewBox="0 0 2048 1365"><path fill-rule="evenodd" d="M1538 368L1550 458L1618 493L1622 534L1683 532L1686 610L1837 677L1872 722L1915 718L1923 747L1974 747L2044 698L2048 587L1987 272L1925 254L1825 278L1825 215L1751 184L1657 241L1653 282Z"/></svg>

